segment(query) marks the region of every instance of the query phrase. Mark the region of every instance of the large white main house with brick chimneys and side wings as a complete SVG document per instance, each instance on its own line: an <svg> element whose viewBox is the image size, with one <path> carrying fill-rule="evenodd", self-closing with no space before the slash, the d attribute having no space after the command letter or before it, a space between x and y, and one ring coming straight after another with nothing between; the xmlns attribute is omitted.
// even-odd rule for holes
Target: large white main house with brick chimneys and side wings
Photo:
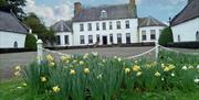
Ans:
<svg viewBox="0 0 199 100"><path fill-rule="evenodd" d="M72 25L71 27L67 25L71 29L71 33L69 33L69 37L71 37L69 38L70 45L67 46L133 44L157 41L160 30L166 25L154 18L137 18L136 8L135 0L129 0L129 3L126 4L91 8L83 8L80 2L75 2ZM64 25L66 22L61 23L60 21L57 23L66 26ZM62 38L65 37L62 35L65 36L67 33L66 31L60 33L56 26L57 23L52 25L56 38L61 40L56 43L64 44L65 40ZM146 40L142 38L144 37L144 33L142 35L144 31L146 31ZM150 32L153 32L153 35L150 35Z"/></svg>

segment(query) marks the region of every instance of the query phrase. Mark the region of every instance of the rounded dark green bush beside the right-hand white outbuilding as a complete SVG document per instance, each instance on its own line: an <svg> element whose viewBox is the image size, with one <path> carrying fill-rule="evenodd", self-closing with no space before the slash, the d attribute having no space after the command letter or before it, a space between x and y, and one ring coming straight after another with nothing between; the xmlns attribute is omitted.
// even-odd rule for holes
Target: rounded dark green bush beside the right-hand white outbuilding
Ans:
<svg viewBox="0 0 199 100"><path fill-rule="evenodd" d="M163 30L158 43L160 45L167 46L168 43L174 42L174 37L172 37L172 31L170 29L170 26L166 27Z"/></svg>

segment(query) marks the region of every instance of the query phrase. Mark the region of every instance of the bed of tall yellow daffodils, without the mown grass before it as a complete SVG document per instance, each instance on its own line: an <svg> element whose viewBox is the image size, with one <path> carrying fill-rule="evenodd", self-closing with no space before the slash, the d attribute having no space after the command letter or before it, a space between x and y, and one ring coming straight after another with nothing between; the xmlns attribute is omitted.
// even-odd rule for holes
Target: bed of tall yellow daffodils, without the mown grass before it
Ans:
<svg viewBox="0 0 199 100"><path fill-rule="evenodd" d="M97 53L52 55L25 69L15 67L33 95L48 95L52 100L116 100L121 92L156 90L191 91L199 87L199 57L160 52L159 59L106 58Z"/></svg>

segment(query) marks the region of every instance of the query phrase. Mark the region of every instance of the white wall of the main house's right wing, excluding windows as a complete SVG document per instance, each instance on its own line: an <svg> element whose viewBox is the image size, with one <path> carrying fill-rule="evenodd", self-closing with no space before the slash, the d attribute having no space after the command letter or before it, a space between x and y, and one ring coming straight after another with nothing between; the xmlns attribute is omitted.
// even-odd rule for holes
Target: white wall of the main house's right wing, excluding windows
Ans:
<svg viewBox="0 0 199 100"><path fill-rule="evenodd" d="M156 42L159 40L160 31L163 31L166 26L144 26L139 27L139 42ZM156 40L150 40L150 30L156 31ZM146 31L146 41L143 41L142 38L142 31Z"/></svg>

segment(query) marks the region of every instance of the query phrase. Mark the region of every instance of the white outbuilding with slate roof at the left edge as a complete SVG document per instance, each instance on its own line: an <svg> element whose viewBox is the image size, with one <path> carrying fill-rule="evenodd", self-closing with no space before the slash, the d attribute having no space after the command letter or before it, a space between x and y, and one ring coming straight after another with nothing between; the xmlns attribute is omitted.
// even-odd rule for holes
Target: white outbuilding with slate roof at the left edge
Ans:
<svg viewBox="0 0 199 100"><path fill-rule="evenodd" d="M23 48L29 29L14 15L0 11L0 48Z"/></svg>

